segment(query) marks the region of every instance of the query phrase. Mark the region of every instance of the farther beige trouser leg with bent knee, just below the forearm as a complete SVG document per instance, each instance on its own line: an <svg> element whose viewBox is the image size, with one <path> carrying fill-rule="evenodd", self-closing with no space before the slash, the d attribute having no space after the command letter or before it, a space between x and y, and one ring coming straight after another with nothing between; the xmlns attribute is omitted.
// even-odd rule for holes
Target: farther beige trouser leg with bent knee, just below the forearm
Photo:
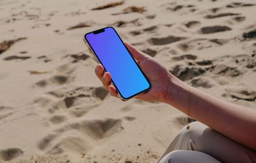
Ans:
<svg viewBox="0 0 256 163"><path fill-rule="evenodd" d="M187 130L185 126L178 133L157 163L175 150L199 151L220 162L256 162L256 151L234 142L200 122L190 123L189 126L190 129Z"/></svg>

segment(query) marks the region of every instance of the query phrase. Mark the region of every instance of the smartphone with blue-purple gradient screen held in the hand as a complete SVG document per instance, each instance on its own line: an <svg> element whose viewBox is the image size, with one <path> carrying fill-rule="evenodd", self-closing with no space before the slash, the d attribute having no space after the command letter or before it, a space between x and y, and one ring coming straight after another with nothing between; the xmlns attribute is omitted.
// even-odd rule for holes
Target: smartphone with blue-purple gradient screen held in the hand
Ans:
<svg viewBox="0 0 256 163"><path fill-rule="evenodd" d="M122 101L151 89L149 80L112 26L85 34L83 41L104 71L110 72L111 85Z"/></svg>

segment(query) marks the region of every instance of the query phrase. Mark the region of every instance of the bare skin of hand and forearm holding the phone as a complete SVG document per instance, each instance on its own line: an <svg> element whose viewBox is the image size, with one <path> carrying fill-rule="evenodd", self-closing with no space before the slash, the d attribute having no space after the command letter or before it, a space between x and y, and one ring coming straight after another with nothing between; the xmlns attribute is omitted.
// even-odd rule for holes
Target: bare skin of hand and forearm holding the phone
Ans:
<svg viewBox="0 0 256 163"><path fill-rule="evenodd" d="M189 86L171 74L154 58L129 43L124 43L152 84L150 91L136 98L168 103L187 114ZM117 97L115 87L110 85L111 74L104 72L101 64L96 66L95 73L105 89L109 90L112 96ZM223 101L191 87L189 116L256 151L255 110Z"/></svg>

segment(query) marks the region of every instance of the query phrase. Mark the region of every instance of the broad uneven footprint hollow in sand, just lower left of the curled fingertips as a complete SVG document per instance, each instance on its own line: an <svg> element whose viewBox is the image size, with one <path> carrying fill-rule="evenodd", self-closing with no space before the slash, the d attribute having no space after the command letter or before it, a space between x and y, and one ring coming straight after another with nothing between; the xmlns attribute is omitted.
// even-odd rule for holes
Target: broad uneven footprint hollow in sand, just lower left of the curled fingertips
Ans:
<svg viewBox="0 0 256 163"><path fill-rule="evenodd" d="M87 114L108 95L109 92L103 87L80 87L70 91L67 91L67 88L61 88L37 97L33 103L37 106L38 112L53 115L49 119L51 124L58 124L66 121L67 117L77 118ZM64 111L67 108L68 111Z"/></svg>

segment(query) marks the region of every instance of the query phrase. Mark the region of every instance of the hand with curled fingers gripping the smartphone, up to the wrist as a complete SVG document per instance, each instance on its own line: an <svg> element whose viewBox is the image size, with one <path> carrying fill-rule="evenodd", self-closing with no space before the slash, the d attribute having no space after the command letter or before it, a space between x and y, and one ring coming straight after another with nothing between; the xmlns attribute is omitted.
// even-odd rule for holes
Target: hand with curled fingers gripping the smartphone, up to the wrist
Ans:
<svg viewBox="0 0 256 163"><path fill-rule="evenodd" d="M125 46L129 49L132 56L137 60L138 65L146 77L150 80L152 88L150 91L138 95L136 98L144 101L159 101L166 102L168 98L168 89L170 87L170 79L172 74L157 60L139 51L134 46L127 42L124 42ZM110 85L111 74L109 72L104 73L103 66L98 64L95 68L95 73L101 80L106 90L110 91L110 94L117 97L116 88Z"/></svg>

